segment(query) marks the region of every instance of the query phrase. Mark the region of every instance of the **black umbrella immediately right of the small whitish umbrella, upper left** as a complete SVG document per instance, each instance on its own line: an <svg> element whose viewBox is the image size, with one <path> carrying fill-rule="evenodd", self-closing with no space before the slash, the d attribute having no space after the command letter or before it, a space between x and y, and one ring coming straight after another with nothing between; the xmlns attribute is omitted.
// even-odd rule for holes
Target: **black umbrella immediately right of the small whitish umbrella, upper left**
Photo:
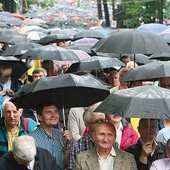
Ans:
<svg viewBox="0 0 170 170"><path fill-rule="evenodd" d="M50 34L41 38L40 41L38 41L38 43L46 45L49 43L69 41L69 40L72 40L72 38L66 34Z"/></svg>

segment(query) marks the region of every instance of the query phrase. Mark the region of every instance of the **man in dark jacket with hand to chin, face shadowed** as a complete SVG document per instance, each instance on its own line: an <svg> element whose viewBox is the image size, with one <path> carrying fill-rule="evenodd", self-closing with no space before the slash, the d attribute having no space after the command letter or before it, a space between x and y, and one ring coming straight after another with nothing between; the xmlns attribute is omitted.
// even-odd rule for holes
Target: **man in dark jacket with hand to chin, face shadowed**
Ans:
<svg viewBox="0 0 170 170"><path fill-rule="evenodd" d="M156 119L140 119L138 126L140 139L125 149L135 156L138 170L149 170L153 161L166 157L165 145L155 141L157 130Z"/></svg>

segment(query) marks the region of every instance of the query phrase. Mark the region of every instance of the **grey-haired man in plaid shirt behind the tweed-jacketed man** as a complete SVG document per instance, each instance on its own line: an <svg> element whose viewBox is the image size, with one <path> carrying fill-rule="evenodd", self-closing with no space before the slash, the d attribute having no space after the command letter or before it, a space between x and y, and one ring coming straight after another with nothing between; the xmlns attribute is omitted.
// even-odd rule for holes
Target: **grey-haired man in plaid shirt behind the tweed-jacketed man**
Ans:
<svg viewBox="0 0 170 170"><path fill-rule="evenodd" d="M83 151L86 151L94 147L95 143L92 139L93 131L97 123L105 121L104 113L93 112L96 109L96 105L90 106L83 114L83 120L88 133L82 136L79 140L73 143L70 152L70 159L68 164L68 170L73 169L73 164L75 162L76 156Z"/></svg>

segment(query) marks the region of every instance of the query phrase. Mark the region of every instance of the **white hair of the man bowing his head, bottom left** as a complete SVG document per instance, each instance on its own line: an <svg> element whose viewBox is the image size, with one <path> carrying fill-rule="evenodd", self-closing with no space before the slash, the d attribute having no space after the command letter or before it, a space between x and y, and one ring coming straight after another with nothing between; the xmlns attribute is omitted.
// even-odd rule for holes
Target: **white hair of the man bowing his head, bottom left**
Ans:
<svg viewBox="0 0 170 170"><path fill-rule="evenodd" d="M36 155L36 145L33 137L28 135L19 136L12 142L13 154L19 159L32 161Z"/></svg>

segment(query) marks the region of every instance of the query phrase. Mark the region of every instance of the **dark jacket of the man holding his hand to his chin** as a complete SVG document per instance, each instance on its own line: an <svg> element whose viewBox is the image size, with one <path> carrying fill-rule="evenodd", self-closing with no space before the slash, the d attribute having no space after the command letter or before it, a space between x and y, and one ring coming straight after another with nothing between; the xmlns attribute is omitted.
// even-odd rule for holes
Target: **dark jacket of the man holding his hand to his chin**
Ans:
<svg viewBox="0 0 170 170"><path fill-rule="evenodd" d="M148 156L148 164L143 164L142 162L139 161L142 152L142 144L140 140L138 140L136 144L126 148L125 151L134 155L138 170L149 170L153 161L161 158L166 158L166 148L165 145L161 142L157 142L157 147L154 154L152 156L151 155Z"/></svg>

